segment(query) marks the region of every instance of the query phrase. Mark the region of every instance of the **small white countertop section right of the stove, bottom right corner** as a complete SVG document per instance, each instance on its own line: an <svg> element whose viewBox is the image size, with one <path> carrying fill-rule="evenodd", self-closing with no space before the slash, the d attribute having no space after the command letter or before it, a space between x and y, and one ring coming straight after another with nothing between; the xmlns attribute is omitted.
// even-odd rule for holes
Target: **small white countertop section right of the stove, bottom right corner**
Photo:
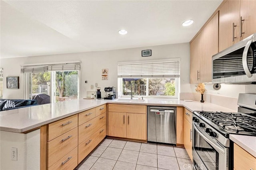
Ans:
<svg viewBox="0 0 256 170"><path fill-rule="evenodd" d="M229 138L256 158L256 136L230 134Z"/></svg>

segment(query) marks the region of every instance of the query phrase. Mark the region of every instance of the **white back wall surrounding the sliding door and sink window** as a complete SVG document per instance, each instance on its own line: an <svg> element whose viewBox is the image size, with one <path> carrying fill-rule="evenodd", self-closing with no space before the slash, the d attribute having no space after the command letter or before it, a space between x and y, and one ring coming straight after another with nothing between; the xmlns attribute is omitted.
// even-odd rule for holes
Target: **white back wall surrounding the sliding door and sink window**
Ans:
<svg viewBox="0 0 256 170"><path fill-rule="evenodd" d="M141 51L152 50L152 56L141 57ZM180 84L181 92L190 93L190 46L189 43L158 45L152 47L139 47L111 51L95 51L85 53L46 55L36 57L17 57L0 59L0 67L4 68L4 99L23 98L23 75L20 73L20 65L31 63L47 63L58 61L82 61L81 63L81 91L80 97L86 97L86 91L90 85L98 83L98 87L117 87L117 63L121 61L139 61L153 59L180 58ZM101 69L109 69L108 80L101 80ZM20 76L20 89L6 89L7 76ZM87 80L88 83L84 83ZM101 90L103 92L103 90ZM105 92L103 92L105 93Z"/></svg>

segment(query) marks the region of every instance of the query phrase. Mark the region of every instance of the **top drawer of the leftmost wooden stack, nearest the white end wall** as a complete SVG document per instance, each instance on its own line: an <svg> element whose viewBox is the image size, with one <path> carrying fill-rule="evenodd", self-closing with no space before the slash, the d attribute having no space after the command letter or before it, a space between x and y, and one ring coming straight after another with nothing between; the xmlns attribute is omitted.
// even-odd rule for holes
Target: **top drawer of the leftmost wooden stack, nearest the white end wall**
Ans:
<svg viewBox="0 0 256 170"><path fill-rule="evenodd" d="M48 140L50 141L66 132L69 130L77 127L78 123L78 116L70 116L65 119L61 119L59 121L56 121L54 123L50 123L48 125Z"/></svg>

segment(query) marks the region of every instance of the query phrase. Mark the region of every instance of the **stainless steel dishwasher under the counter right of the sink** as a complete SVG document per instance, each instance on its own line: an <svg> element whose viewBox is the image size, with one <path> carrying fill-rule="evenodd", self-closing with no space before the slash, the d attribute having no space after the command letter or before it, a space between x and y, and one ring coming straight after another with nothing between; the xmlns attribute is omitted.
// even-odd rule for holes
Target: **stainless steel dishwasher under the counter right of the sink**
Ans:
<svg viewBox="0 0 256 170"><path fill-rule="evenodd" d="M148 142L176 144L176 107L148 106Z"/></svg>

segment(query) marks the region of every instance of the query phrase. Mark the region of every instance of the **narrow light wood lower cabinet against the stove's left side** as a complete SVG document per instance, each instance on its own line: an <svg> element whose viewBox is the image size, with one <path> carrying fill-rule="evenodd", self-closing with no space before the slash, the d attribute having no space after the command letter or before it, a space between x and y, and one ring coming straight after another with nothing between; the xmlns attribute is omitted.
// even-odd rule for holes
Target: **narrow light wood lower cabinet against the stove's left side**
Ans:
<svg viewBox="0 0 256 170"><path fill-rule="evenodd" d="M184 147L191 160L192 157L192 113L185 109L184 111Z"/></svg>

